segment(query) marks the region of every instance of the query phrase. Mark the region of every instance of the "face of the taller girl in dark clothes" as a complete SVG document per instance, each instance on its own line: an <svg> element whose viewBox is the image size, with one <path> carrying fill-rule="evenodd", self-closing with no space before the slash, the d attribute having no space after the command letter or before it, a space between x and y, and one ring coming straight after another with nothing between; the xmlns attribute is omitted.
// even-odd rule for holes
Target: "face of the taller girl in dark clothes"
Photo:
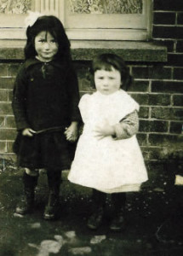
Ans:
<svg viewBox="0 0 183 256"><path fill-rule="evenodd" d="M51 61L58 52L58 44L49 32L38 33L34 44L40 61Z"/></svg>

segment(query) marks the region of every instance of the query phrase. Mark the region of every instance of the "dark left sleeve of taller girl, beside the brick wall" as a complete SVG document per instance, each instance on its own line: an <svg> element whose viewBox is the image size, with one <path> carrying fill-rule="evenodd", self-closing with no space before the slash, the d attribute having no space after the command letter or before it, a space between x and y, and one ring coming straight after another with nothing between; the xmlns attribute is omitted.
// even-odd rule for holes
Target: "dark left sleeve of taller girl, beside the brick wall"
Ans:
<svg viewBox="0 0 183 256"><path fill-rule="evenodd" d="M26 68L24 64L20 67L19 73L14 82L12 108L17 130L23 130L30 125L26 119Z"/></svg>

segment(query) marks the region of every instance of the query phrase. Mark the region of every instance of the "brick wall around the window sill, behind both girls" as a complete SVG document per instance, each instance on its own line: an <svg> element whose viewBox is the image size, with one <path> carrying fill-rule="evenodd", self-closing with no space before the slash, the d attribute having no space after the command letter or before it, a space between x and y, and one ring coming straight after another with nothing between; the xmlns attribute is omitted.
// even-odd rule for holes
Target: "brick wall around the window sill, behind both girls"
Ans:
<svg viewBox="0 0 183 256"><path fill-rule="evenodd" d="M140 103L138 139L146 160L181 157L183 123L183 1L153 1L152 37L168 48L167 62L128 61L134 76L129 93ZM89 61L74 61L81 94L89 91ZM0 154L14 157L16 135L11 98L20 61L0 62Z"/></svg>

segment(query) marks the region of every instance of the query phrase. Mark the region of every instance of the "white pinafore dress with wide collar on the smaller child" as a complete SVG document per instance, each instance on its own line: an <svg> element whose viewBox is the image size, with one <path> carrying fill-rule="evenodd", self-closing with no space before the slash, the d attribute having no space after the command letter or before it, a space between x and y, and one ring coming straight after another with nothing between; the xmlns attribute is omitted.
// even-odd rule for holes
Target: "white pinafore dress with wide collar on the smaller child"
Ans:
<svg viewBox="0 0 183 256"><path fill-rule="evenodd" d="M136 136L116 140L98 139L94 128L102 122L116 125L127 114L139 110L139 104L124 90L111 95L99 91L84 95L79 102L83 134L77 143L68 179L105 193L140 190L147 172Z"/></svg>

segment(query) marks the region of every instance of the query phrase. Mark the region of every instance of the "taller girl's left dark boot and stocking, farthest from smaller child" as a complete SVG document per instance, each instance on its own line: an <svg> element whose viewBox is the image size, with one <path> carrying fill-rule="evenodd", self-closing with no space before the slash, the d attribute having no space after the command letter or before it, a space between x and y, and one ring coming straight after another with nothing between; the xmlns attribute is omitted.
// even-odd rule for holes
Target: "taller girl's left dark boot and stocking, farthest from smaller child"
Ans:
<svg viewBox="0 0 183 256"><path fill-rule="evenodd" d="M17 204L15 209L16 213L26 214L32 211L34 207L34 189L37 186L37 176L30 176L24 172L23 183L24 183L24 195L21 196L20 202Z"/></svg>

